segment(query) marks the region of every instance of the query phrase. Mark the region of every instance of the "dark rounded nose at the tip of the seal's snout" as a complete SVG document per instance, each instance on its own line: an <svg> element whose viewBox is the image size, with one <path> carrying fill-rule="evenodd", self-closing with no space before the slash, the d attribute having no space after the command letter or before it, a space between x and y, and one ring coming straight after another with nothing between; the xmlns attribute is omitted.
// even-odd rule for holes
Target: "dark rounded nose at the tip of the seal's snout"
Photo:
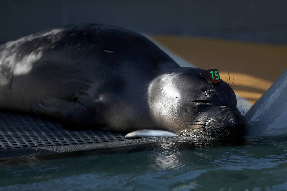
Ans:
<svg viewBox="0 0 287 191"><path fill-rule="evenodd" d="M241 116L232 116L228 122L229 134L232 136L243 136L245 132L245 120Z"/></svg>

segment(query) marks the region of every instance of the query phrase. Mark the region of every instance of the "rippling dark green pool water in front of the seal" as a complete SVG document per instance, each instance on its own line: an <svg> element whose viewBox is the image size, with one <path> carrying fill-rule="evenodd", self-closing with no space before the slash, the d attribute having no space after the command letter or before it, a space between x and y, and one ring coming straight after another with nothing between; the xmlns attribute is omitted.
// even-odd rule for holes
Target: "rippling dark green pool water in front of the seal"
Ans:
<svg viewBox="0 0 287 191"><path fill-rule="evenodd" d="M164 139L0 168L0 190L287 190L287 136Z"/></svg>

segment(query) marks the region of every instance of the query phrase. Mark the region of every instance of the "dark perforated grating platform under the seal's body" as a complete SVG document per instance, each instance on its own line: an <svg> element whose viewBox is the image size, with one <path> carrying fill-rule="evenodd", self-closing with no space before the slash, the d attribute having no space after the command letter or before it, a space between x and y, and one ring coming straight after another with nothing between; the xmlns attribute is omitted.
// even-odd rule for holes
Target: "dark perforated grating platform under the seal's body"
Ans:
<svg viewBox="0 0 287 191"><path fill-rule="evenodd" d="M124 141L108 131L72 131L36 116L0 112L0 150Z"/></svg>

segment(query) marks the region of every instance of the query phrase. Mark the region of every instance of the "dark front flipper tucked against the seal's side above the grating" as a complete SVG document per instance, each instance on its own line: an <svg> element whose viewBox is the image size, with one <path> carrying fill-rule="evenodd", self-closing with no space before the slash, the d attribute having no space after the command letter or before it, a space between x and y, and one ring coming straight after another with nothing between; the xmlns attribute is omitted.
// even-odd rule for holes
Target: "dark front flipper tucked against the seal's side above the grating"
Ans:
<svg viewBox="0 0 287 191"><path fill-rule="evenodd" d="M90 126L95 119L95 102L78 97L73 101L52 98L37 102L33 105L32 111L37 115L56 119L66 128Z"/></svg>

